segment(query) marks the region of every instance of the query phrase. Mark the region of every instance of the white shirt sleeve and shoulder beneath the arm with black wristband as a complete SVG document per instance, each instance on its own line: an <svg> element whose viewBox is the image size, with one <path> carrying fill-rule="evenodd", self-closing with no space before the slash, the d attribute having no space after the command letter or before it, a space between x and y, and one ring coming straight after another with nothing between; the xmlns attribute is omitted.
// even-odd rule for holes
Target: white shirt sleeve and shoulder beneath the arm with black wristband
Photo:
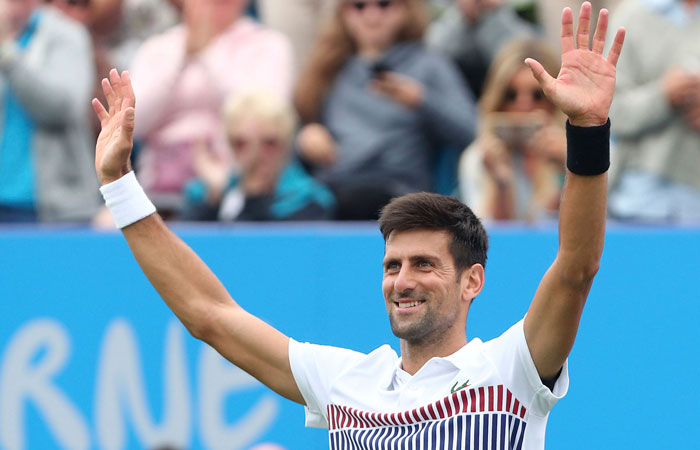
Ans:
<svg viewBox="0 0 700 450"><path fill-rule="evenodd" d="M549 390L542 384L530 349L525 340L524 319L513 325L501 336L485 343L487 357L516 397L527 402L538 416L546 416L569 389L569 361L564 362L561 374Z"/></svg>

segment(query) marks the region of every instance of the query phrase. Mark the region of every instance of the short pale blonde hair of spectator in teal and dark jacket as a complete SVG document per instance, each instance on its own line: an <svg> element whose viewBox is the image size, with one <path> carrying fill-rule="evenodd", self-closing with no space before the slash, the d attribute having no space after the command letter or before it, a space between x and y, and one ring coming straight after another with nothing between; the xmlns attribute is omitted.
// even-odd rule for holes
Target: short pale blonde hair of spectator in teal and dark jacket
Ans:
<svg viewBox="0 0 700 450"><path fill-rule="evenodd" d="M279 95L264 89L250 90L231 95L224 104L224 126L231 136L243 119L259 119L274 123L280 138L291 141L298 118L292 105Z"/></svg>

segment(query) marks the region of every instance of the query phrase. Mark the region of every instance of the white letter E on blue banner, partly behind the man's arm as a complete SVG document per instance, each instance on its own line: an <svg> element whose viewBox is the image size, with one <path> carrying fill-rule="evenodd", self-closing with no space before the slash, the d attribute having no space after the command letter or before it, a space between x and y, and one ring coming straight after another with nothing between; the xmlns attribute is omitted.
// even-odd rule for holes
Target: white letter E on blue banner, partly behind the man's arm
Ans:
<svg viewBox="0 0 700 450"><path fill-rule="evenodd" d="M257 388L260 383L238 367L225 361L211 347L202 347L199 357L199 423L202 443L212 450L238 450L252 444L267 431L277 417L278 400L265 396L237 423L226 425L226 394Z"/></svg>

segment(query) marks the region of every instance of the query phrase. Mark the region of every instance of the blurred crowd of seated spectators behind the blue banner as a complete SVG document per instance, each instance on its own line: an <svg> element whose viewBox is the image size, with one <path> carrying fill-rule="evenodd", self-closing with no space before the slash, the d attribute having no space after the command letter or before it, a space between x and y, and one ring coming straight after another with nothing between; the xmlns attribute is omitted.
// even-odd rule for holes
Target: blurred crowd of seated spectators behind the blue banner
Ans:
<svg viewBox="0 0 700 450"><path fill-rule="evenodd" d="M700 0L593 3L627 28L610 216L700 223ZM366 220L422 190L556 218L565 118L523 61L556 76L550 30L577 5L0 0L0 223L110 223L89 106L112 67L130 71L133 165L166 219Z"/></svg>

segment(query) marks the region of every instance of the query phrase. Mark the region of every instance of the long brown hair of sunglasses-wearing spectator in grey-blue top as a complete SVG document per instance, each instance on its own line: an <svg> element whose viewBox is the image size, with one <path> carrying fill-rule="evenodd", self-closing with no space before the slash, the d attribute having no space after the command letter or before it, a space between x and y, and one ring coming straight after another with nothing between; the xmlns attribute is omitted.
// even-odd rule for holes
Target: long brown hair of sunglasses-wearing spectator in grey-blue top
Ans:
<svg viewBox="0 0 700 450"><path fill-rule="evenodd" d="M422 40L430 20L425 0L395 1L403 2L406 20L394 42ZM335 76L348 58L357 52L357 45L342 18L346 0L338 0L337 3L335 14L324 24L316 38L294 92L294 105L304 122L318 119L323 97Z"/></svg>

